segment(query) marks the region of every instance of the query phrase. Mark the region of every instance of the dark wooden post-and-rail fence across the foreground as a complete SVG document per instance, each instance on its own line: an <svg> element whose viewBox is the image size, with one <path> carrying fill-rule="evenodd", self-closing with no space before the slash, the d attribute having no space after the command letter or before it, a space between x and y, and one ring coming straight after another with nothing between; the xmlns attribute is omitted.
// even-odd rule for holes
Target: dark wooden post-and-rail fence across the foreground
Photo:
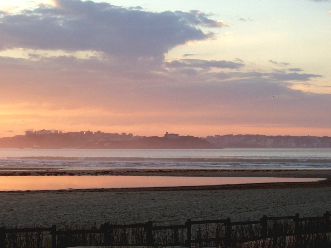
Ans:
<svg viewBox="0 0 331 248"><path fill-rule="evenodd" d="M304 235L330 232L330 212L326 212L320 217L306 218L300 218L299 214L280 217L264 215L260 220L244 222L231 222L230 218L187 220L184 225L170 226L154 226L150 221L130 225L104 223L100 228L88 229L68 227L57 229L56 225L12 229L0 227L0 247L62 248L78 245L229 247L258 240L269 240L273 247L277 247L281 237L295 236L296 242L300 242ZM38 235L28 238L31 233ZM45 240L48 240L47 244ZM28 242L33 244L26 246Z"/></svg>

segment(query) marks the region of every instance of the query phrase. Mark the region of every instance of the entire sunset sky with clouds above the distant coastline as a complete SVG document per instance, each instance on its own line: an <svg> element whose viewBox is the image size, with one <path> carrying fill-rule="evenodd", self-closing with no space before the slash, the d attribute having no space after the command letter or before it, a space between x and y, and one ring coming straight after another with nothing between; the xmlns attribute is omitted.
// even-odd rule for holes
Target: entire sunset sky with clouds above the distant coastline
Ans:
<svg viewBox="0 0 331 248"><path fill-rule="evenodd" d="M331 0L0 0L0 137L331 136Z"/></svg>

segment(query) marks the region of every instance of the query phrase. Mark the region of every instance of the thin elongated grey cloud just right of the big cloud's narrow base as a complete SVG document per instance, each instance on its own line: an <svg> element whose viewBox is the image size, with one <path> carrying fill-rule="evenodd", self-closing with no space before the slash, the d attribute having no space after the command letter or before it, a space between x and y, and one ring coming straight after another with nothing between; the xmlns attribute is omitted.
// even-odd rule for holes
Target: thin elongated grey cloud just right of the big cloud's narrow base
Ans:
<svg viewBox="0 0 331 248"><path fill-rule="evenodd" d="M229 68L229 69L238 69L243 67L243 63L236 63L231 61L207 61L207 60L193 60L193 59L182 59L182 60L174 60L171 62L166 62L166 67L195 67L202 69L211 69L211 68Z"/></svg>

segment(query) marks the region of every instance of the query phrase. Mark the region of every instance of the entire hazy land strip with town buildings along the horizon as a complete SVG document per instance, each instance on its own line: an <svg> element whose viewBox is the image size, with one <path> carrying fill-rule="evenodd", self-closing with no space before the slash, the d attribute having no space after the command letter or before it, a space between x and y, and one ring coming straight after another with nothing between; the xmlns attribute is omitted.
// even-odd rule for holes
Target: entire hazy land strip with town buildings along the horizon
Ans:
<svg viewBox="0 0 331 248"><path fill-rule="evenodd" d="M163 137L133 136L101 131L25 131L25 135L0 138L0 148L82 149L217 149L217 148L330 148L331 137L215 135L203 138L166 132Z"/></svg>

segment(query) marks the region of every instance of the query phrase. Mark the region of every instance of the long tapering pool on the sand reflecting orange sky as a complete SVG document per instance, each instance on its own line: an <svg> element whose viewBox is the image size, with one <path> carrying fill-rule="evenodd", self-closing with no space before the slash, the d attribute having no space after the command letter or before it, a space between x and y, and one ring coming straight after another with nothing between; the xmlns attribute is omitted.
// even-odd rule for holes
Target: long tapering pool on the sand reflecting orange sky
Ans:
<svg viewBox="0 0 331 248"><path fill-rule="evenodd" d="M316 182L320 180L322 179L271 177L0 176L0 191L203 186L248 183Z"/></svg>

